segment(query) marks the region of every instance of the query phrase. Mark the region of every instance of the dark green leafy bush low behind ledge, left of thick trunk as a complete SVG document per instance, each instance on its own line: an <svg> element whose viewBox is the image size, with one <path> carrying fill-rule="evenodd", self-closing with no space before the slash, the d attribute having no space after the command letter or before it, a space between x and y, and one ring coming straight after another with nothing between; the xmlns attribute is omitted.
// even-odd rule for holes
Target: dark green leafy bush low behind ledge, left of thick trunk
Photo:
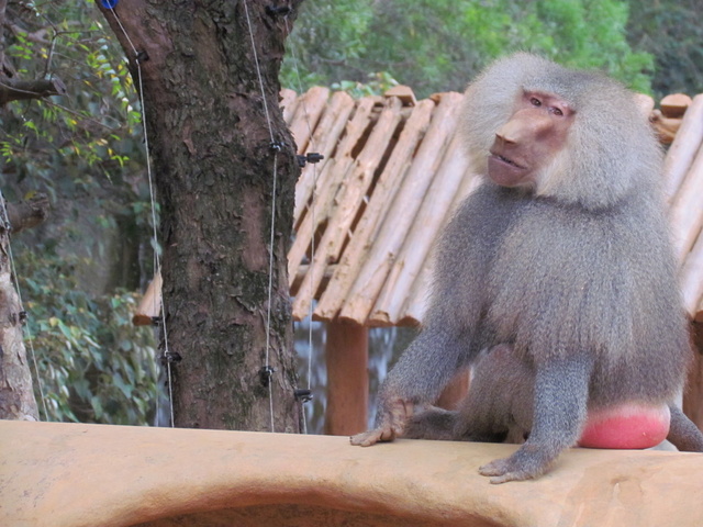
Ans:
<svg viewBox="0 0 703 527"><path fill-rule="evenodd" d="M78 257L58 258L42 245L23 249L16 267L29 313L25 332L49 421L148 424L158 400L159 368L152 329L132 324L134 293L91 296L77 283ZM37 382L35 395L40 401Z"/></svg>

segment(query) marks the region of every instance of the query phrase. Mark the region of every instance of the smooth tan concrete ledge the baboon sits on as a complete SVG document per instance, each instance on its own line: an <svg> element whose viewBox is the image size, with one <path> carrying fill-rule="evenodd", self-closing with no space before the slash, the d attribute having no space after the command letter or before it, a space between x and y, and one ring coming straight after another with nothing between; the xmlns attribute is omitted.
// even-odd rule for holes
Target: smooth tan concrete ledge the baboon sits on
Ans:
<svg viewBox="0 0 703 527"><path fill-rule="evenodd" d="M703 456L573 449L532 482L509 445L0 421L2 526L700 526Z"/></svg>

